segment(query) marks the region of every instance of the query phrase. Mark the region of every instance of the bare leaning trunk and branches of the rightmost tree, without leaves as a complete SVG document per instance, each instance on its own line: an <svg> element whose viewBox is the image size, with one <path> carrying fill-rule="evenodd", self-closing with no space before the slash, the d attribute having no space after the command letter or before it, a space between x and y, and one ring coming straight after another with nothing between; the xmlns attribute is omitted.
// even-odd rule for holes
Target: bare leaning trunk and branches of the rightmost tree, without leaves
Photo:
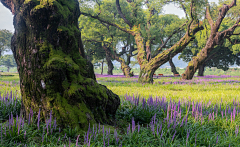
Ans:
<svg viewBox="0 0 240 147"><path fill-rule="evenodd" d="M222 44L225 39L229 39L232 43L230 36L233 35L235 29L239 27L240 18L238 18L232 27L224 31L219 32L219 28L228 10L233 6L236 6L236 0L233 0L230 5L223 5L219 9L219 14L216 22L213 21L210 15L210 6L208 5L206 7L206 18L209 25L211 26L211 34L208 37L205 47L197 54L197 56L193 57L192 61L188 63L186 71L182 74L182 79L191 80L199 66L206 62L207 58L210 56L211 51L216 45Z"/></svg>

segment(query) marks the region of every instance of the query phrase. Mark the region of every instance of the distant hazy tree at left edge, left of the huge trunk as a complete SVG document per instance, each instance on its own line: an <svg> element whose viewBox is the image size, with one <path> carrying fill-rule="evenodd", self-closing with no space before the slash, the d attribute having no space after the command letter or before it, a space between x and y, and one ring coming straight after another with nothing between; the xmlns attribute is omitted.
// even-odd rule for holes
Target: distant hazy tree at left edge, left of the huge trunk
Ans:
<svg viewBox="0 0 240 147"><path fill-rule="evenodd" d="M0 30L0 57L4 51L10 50L12 35L9 30Z"/></svg>

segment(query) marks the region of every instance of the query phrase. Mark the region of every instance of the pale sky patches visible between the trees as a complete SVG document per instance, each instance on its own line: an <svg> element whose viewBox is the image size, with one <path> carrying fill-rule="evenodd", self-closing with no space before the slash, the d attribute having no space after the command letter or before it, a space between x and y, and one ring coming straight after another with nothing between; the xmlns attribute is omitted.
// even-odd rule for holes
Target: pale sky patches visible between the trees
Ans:
<svg viewBox="0 0 240 147"><path fill-rule="evenodd" d="M209 0L209 2L218 2L218 0ZM164 8L165 14L176 14L179 17L184 17L185 14L184 12L174 6L173 4L169 4L165 6ZM14 27L13 27L13 15L10 10L8 10L6 7L2 5L0 2L0 30L1 29L7 29L12 32L14 32ZM10 52L11 53L11 52Z"/></svg>

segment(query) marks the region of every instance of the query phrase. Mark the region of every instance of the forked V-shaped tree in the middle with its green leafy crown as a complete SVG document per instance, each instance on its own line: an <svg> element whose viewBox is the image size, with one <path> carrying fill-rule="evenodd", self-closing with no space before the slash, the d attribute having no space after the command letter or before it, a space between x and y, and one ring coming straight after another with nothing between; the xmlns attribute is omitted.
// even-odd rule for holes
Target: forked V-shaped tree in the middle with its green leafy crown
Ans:
<svg viewBox="0 0 240 147"><path fill-rule="evenodd" d="M182 2L189 20L183 23L177 16L160 15L162 6L169 1L121 1L115 0L115 4L105 6L105 1L97 1L95 9L86 7L84 2L81 3L81 14L98 19L102 23L114 26L122 30L135 39L138 50L138 63L140 65L140 75L138 82L153 83L154 72L164 63L168 62L176 54L182 50L194 39L194 35L203 27L195 17L198 8L204 1ZM189 5L187 8L185 5ZM104 7L102 6L104 5ZM117 13L110 13L112 7ZM98 8L98 9L97 9ZM147 8L146 10L143 8ZM167 19L168 21L165 21ZM179 24L182 24L179 27ZM170 48L166 48L166 44L176 33L185 29L186 33L178 42ZM159 33L161 32L161 33ZM159 44L159 48L154 49L153 45Z"/></svg>

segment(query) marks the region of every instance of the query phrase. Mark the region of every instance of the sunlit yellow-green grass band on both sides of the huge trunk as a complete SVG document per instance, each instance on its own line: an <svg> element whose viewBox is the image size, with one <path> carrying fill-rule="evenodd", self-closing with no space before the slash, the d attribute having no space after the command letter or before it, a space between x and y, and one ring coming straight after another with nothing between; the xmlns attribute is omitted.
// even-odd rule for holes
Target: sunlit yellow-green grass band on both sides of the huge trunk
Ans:
<svg viewBox="0 0 240 147"><path fill-rule="evenodd" d="M19 76L16 73L5 73L12 74L14 76L1 76L0 77L0 92L1 95L5 92L13 91L14 95L18 94L20 97L20 86ZM198 80L201 78L194 78ZM224 78L231 80L239 80L240 78ZM221 80L224 80L221 79ZM193 80L193 81L194 81ZM7 82L9 81L9 82ZM10 84L12 81L12 84ZM14 83L15 81L15 83ZM149 96L153 97L166 97L167 100L174 99L189 99L194 101L208 102L211 100L212 103L223 102L232 102L233 99L236 99L240 96L240 84L159 84L159 82L174 82L180 81L180 77L161 77L154 79L154 84L140 84L137 83L137 78L97 78L97 81L101 84L106 85L110 90L119 95L121 98L125 95L140 95L140 97L148 98ZM109 82L109 81L118 81L118 82ZM16 84L16 86L15 86Z"/></svg>

